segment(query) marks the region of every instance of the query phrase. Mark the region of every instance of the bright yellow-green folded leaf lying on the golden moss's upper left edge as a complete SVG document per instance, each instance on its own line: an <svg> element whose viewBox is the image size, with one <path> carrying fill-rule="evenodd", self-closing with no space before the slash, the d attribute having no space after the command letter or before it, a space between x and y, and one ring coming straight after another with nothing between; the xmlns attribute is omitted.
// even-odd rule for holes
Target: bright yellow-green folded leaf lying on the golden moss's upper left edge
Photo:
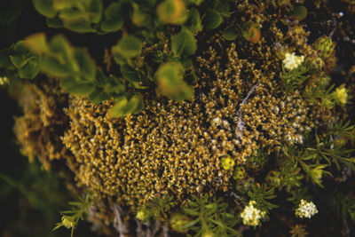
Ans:
<svg viewBox="0 0 355 237"><path fill-rule="evenodd" d="M116 99L114 107L110 108L107 113L112 117L122 117L139 113L143 108L144 102L142 95L135 93L130 99L127 99L126 96L121 96Z"/></svg>

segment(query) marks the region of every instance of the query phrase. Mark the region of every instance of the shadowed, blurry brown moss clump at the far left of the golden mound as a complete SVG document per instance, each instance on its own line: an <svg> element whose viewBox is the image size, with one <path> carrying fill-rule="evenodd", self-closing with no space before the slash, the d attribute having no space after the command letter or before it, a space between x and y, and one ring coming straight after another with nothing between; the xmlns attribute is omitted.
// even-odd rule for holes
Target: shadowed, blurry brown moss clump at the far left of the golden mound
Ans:
<svg viewBox="0 0 355 237"><path fill-rule="evenodd" d="M26 84L20 95L20 107L24 115L15 117L13 128L20 146L20 152L28 156L29 161L38 157L43 168L49 170L51 161L69 157L67 148L60 140L67 126L67 116L63 107L67 107L67 94L59 90L54 80L35 84Z"/></svg>

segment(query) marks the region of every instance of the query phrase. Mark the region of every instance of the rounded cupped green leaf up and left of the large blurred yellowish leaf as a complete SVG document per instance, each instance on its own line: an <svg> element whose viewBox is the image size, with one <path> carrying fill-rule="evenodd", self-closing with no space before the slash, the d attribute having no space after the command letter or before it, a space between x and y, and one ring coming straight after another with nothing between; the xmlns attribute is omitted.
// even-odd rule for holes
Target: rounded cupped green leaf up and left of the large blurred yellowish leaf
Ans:
<svg viewBox="0 0 355 237"><path fill-rule="evenodd" d="M124 36L112 47L114 57L122 56L124 59L137 57L142 52L142 42L134 36Z"/></svg>

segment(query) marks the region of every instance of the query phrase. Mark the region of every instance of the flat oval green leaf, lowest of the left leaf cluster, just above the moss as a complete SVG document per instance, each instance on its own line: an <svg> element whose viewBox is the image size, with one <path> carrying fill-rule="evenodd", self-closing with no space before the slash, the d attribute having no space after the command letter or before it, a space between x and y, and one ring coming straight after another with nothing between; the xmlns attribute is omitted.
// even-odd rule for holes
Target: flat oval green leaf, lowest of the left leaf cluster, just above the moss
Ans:
<svg viewBox="0 0 355 237"><path fill-rule="evenodd" d="M61 80L61 86L64 90L77 96L87 96L92 91L95 91L95 85L93 83L85 83L80 78L75 77L68 77Z"/></svg>

